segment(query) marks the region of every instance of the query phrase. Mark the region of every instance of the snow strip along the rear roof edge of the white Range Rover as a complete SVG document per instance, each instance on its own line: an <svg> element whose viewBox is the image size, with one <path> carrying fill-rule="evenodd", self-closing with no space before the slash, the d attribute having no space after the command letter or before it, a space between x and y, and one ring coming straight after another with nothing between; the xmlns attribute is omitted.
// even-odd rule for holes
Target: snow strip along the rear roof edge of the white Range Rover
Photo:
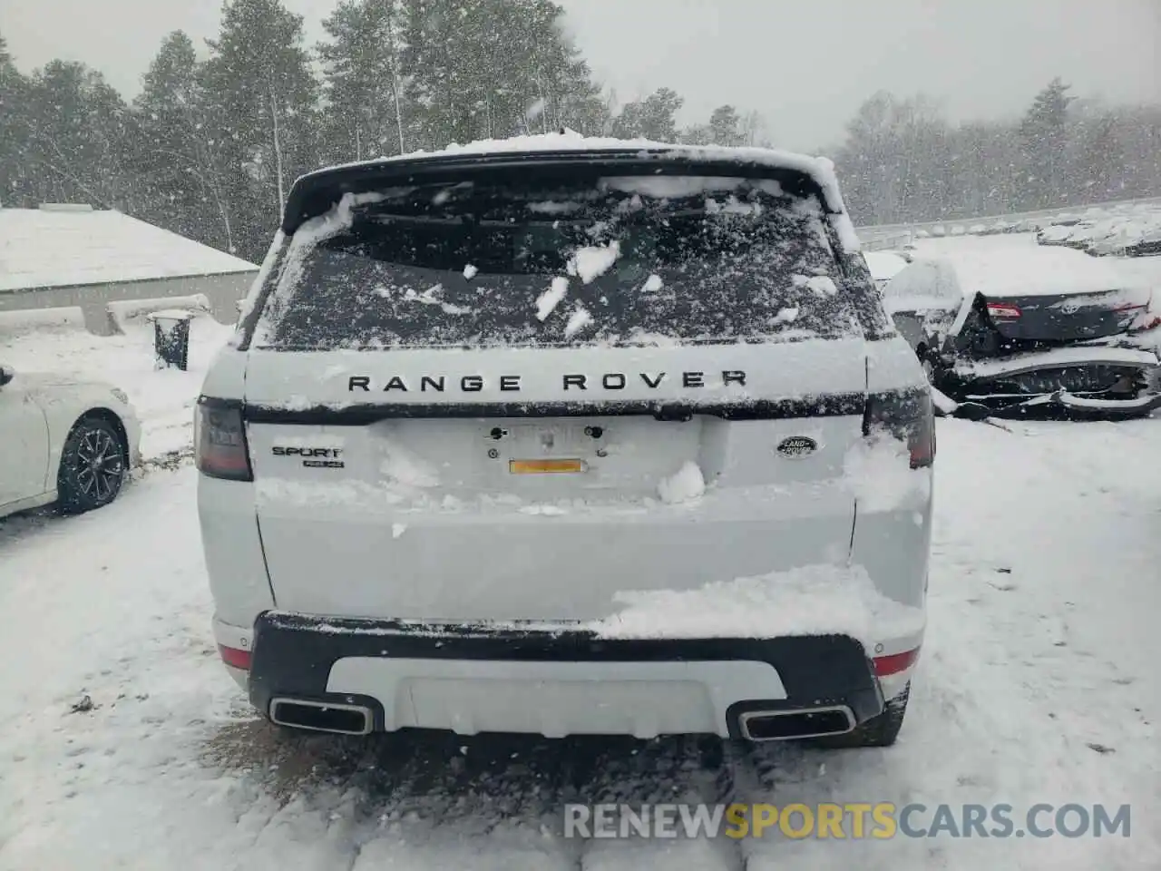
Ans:
<svg viewBox="0 0 1161 871"><path fill-rule="evenodd" d="M843 202L843 195L838 187L838 178L835 174L835 164L825 157L812 157L792 151L779 151L776 149L763 149L755 146L726 147L721 145L682 145L676 143L654 142L651 139L615 139L608 137L582 136L574 130L563 130L556 134L536 134L532 136L513 136L506 139L479 139L464 145L452 143L447 147L438 151L412 151L408 154L395 154L381 157L373 160L362 160L351 164L339 164L323 170L316 170L307 175L300 177L295 181L300 182L315 179L340 170L355 167L381 166L392 163L404 163L411 160L430 160L440 158L489 156L489 154L551 154L562 151L591 151L591 152L625 152L639 151L641 157L656 157L658 159L694 159L694 160L720 160L737 164L750 164L778 167L801 172L808 175L822 190L827 210L831 224L835 226L842 243L843 250L854 252L859 250L858 235L851 223ZM663 153L658 153L663 152Z"/></svg>

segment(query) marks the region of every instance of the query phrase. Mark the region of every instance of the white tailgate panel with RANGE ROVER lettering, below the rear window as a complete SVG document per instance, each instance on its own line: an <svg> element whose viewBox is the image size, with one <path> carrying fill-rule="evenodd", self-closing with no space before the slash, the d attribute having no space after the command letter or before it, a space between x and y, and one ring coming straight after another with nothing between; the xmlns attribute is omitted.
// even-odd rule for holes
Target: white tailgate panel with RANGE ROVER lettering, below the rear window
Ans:
<svg viewBox="0 0 1161 871"><path fill-rule="evenodd" d="M258 519L280 609L594 619L625 590L846 557L860 340L327 357L253 352L247 370ZM467 399L351 389L401 372L457 386L463 372L486 374ZM505 375L526 399L505 397ZM577 375L585 399L565 401L560 386ZM604 387L621 376L623 389ZM287 408L291 382L301 394Z"/></svg>

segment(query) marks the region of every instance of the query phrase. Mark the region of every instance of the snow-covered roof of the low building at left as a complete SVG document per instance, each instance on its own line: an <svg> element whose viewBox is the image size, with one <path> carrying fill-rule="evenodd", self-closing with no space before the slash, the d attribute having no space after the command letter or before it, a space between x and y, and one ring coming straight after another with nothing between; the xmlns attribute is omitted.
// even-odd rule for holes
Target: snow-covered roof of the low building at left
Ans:
<svg viewBox="0 0 1161 871"><path fill-rule="evenodd" d="M257 271L120 211L0 209L0 293Z"/></svg>

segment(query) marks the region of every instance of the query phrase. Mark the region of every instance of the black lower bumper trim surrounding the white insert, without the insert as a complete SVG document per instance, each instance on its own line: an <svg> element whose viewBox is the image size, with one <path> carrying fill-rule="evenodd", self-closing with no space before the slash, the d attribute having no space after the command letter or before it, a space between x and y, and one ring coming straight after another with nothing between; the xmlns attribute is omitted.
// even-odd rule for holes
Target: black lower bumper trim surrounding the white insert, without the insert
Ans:
<svg viewBox="0 0 1161 871"><path fill-rule="evenodd" d="M331 667L348 656L524 662L680 662L742 660L772 665L785 699L747 699L727 713L731 737L749 711L785 711L845 705L856 722L881 713L882 693L866 650L848 635L789 635L769 639L604 639L586 631L417 626L389 620L326 619L266 612L254 624L250 700L268 714L274 698L360 704L375 730L383 710L370 697L329 693Z"/></svg>

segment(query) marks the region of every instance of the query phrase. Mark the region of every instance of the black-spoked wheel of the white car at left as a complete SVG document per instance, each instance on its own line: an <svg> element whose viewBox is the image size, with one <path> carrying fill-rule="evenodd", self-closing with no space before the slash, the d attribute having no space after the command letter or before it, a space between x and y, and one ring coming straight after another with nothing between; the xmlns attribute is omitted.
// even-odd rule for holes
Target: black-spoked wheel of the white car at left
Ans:
<svg viewBox="0 0 1161 871"><path fill-rule="evenodd" d="M57 472L57 506L81 514L117 498L129 459L121 433L102 417L82 417L65 439Z"/></svg>

